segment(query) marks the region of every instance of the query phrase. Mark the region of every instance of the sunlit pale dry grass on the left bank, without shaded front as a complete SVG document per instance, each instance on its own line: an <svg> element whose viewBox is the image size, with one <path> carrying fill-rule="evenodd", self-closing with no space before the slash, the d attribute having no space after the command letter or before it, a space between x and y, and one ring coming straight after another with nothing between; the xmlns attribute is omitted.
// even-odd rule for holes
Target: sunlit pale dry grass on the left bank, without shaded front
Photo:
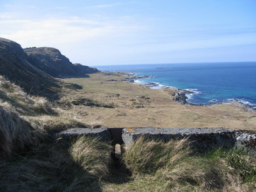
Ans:
<svg viewBox="0 0 256 192"><path fill-rule="evenodd" d="M21 119L26 118L30 124L28 127L35 130L55 132L68 128L91 128L85 122L70 116L65 110L54 108L47 99L28 95L3 76L0 76L0 98L0 106L3 109L15 112L15 116L18 115Z"/></svg>

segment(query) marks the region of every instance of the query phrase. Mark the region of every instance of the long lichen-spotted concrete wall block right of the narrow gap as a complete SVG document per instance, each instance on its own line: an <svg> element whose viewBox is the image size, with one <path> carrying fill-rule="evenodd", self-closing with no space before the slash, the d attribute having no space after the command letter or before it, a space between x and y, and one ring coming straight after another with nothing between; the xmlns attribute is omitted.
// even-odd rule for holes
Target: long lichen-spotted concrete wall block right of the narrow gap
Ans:
<svg viewBox="0 0 256 192"><path fill-rule="evenodd" d="M232 148L236 145L235 131L228 128L124 128L122 140L124 145L131 145L139 137L155 141L169 141L188 138L190 147L195 151Z"/></svg>

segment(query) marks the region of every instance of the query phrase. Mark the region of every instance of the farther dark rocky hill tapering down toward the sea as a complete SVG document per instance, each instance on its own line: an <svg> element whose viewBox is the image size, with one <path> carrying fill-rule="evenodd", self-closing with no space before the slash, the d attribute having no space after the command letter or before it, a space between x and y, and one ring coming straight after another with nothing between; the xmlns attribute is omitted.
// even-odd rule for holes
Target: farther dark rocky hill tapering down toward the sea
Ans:
<svg viewBox="0 0 256 192"><path fill-rule="evenodd" d="M55 78L82 77L99 72L82 64L72 64L58 49L51 47L32 47L24 49L28 61Z"/></svg>

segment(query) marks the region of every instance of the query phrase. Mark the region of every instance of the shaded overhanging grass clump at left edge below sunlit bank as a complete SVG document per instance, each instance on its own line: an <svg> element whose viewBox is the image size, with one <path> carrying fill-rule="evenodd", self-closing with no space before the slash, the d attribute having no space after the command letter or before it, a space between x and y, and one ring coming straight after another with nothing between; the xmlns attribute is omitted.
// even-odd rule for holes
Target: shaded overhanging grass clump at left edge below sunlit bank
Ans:
<svg viewBox="0 0 256 192"><path fill-rule="evenodd" d="M36 130L29 122L0 105L0 156L10 156L14 151L38 145L43 137L41 130Z"/></svg>

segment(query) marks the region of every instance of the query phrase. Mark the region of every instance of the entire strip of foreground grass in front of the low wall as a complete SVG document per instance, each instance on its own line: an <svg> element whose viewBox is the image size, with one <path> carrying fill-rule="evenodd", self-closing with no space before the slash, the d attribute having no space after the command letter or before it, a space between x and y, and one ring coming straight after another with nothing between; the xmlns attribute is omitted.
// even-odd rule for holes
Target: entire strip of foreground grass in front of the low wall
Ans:
<svg viewBox="0 0 256 192"><path fill-rule="evenodd" d="M0 191L253 191L256 161L238 149L194 154L186 139L148 141L111 158L111 145L80 137L0 158Z"/></svg>

